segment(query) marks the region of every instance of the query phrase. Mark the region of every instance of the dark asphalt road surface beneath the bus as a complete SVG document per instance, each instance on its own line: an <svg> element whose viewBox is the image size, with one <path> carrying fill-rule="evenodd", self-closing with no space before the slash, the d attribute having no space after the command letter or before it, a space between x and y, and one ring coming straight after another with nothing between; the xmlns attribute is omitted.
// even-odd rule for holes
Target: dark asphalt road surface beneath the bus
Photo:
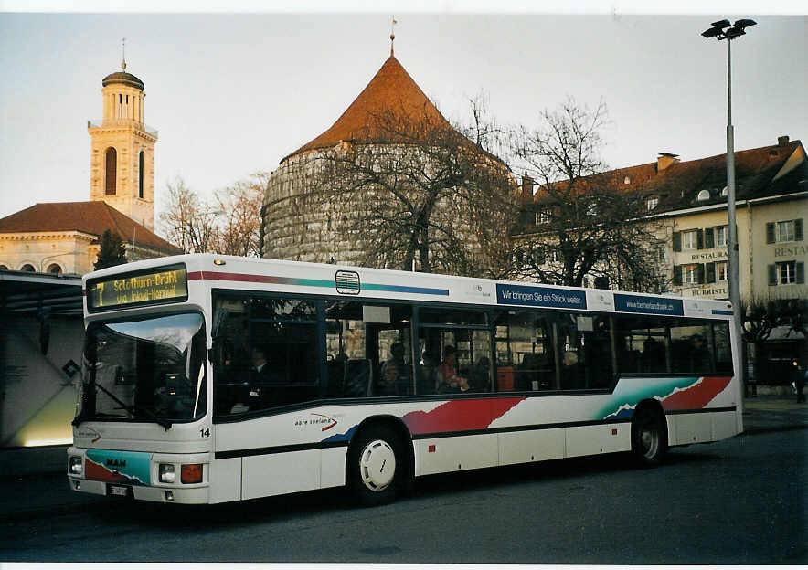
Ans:
<svg viewBox="0 0 808 570"><path fill-rule="evenodd" d="M340 491L55 502L0 523L0 560L806 564L806 443L797 429L675 449L654 470L618 455L441 475L374 509ZM28 484L69 492L61 474Z"/></svg>

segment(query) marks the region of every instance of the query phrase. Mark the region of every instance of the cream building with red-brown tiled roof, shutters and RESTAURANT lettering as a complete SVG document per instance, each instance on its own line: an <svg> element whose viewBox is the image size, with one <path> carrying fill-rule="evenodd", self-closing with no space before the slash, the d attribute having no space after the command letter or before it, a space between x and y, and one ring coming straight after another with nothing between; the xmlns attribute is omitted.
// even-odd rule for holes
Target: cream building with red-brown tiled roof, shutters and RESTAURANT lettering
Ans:
<svg viewBox="0 0 808 570"><path fill-rule="evenodd" d="M680 161L675 154L661 153L655 163L605 173L611 184L643 197L645 216L660 228L658 238L664 244L658 251L660 269L668 291L677 295L729 297L726 161L726 154ZM741 300L808 299L808 159L803 143L781 136L776 144L738 151L735 171ZM533 195L529 185L524 195L534 199L518 232L536 238L551 200L541 189ZM808 356L803 337L784 329L788 327L772 333L761 348L765 354L759 362L765 369L759 371L760 382L770 373L783 374L783 355Z"/></svg>

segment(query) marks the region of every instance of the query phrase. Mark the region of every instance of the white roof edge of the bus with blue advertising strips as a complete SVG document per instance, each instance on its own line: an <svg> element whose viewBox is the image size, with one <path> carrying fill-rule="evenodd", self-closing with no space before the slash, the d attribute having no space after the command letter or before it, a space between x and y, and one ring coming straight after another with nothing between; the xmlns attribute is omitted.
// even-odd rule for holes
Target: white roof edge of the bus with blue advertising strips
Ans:
<svg viewBox="0 0 808 570"><path fill-rule="evenodd" d="M272 290L335 297L438 301L499 307L660 314L728 319L728 301L630 291L584 289L525 281L488 280L393 269L302 261L186 254L136 261L88 273L88 280L185 264L189 282L216 289Z"/></svg>

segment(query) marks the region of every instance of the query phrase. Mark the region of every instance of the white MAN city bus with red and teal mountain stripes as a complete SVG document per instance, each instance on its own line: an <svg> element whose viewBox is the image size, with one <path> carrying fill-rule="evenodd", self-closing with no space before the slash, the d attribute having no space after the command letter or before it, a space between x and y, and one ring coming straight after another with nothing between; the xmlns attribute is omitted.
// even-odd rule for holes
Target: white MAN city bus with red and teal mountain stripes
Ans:
<svg viewBox="0 0 808 570"><path fill-rule="evenodd" d="M218 503L742 431L726 301L187 255L84 278L71 489Z"/></svg>

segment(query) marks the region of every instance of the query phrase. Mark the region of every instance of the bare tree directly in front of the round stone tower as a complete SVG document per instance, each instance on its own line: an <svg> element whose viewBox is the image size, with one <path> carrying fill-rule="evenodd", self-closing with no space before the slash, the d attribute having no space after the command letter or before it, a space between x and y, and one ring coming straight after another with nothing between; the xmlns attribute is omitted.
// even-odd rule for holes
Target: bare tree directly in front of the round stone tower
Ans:
<svg viewBox="0 0 808 570"><path fill-rule="evenodd" d="M357 140L322 151L310 180L321 204L341 205L357 263L487 277L506 266L516 197L504 163L426 112L380 113Z"/></svg>

